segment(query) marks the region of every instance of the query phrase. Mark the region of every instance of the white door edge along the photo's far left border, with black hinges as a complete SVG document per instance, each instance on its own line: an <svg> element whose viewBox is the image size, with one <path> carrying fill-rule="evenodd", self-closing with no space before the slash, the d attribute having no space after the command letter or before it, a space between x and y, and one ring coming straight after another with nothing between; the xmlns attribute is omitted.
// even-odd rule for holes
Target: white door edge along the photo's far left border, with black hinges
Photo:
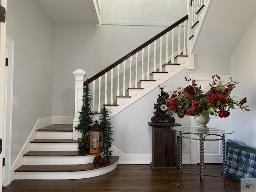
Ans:
<svg viewBox="0 0 256 192"><path fill-rule="evenodd" d="M0 0L0 5L6 8L7 1ZM4 135L4 95L5 95L5 41L6 22L0 22L0 139ZM1 144L2 148L2 144ZM0 154L0 165L2 165L3 153ZM2 166L0 166L0 186L2 186ZM2 191L2 188L1 188Z"/></svg>

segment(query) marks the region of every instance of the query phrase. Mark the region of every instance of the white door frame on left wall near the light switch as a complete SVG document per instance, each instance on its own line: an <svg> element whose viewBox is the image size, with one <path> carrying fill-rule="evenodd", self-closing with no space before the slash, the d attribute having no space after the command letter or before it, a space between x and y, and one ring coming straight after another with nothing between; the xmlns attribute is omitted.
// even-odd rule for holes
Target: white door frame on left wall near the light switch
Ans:
<svg viewBox="0 0 256 192"><path fill-rule="evenodd" d="M5 105L4 105L4 137L3 137L3 186L10 184L10 160L11 160L11 130L12 130L12 90L13 90L13 61L14 61L14 42L6 38L6 58L8 66L5 69Z"/></svg>

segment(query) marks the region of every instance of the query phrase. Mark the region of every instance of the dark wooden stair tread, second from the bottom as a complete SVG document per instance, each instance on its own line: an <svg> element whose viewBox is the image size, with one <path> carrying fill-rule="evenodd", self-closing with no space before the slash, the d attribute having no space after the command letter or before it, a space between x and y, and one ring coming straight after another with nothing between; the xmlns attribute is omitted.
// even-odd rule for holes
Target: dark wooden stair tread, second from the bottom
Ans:
<svg viewBox="0 0 256 192"><path fill-rule="evenodd" d="M49 157L56 157L56 156L85 156L91 154L83 154L80 155L79 151L29 151L23 156L49 156Z"/></svg>

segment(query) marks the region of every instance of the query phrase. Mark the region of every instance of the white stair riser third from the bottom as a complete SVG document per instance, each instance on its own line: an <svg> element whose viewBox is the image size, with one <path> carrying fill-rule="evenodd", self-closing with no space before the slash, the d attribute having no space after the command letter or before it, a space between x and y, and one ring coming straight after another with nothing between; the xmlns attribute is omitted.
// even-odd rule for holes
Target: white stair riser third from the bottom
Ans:
<svg viewBox="0 0 256 192"><path fill-rule="evenodd" d="M31 143L32 151L78 151L77 143Z"/></svg>

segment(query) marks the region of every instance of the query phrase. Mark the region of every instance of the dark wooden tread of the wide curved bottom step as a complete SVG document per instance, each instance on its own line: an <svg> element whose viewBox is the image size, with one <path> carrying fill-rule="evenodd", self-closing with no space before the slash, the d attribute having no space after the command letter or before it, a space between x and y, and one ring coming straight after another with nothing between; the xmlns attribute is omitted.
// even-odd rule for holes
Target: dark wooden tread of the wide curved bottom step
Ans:
<svg viewBox="0 0 256 192"><path fill-rule="evenodd" d="M94 170L114 164L119 159L118 156L112 157L112 161L104 166L96 166L94 163L77 165L22 165L15 172L74 172Z"/></svg>

